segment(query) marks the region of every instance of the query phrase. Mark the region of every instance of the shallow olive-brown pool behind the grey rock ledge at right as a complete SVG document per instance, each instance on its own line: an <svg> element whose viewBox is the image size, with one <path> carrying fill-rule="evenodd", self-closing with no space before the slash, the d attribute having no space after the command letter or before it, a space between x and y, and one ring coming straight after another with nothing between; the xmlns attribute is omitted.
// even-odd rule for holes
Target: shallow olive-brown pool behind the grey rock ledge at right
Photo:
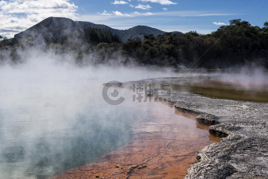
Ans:
<svg viewBox="0 0 268 179"><path fill-rule="evenodd" d="M252 101L268 103L268 83L254 84L243 80L235 81L223 77L190 77L190 78L165 78L153 81L157 87L159 83L171 84L171 90L194 92L210 98Z"/></svg>

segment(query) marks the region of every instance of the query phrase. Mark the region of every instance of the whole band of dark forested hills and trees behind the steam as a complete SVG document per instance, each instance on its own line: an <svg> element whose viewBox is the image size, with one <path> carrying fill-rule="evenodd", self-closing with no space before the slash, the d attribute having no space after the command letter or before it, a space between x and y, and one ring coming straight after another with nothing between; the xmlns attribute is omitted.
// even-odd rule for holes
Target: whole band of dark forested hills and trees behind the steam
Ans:
<svg viewBox="0 0 268 179"><path fill-rule="evenodd" d="M56 21L54 21L54 20ZM63 18L66 20L66 18ZM52 22L49 22L49 21ZM59 20L59 21L57 21ZM250 24L248 21L233 19L228 25L219 27L210 34L199 34L196 31L188 33L164 33L155 36L157 29L146 26L137 26L128 30L117 30L108 26L79 22L61 18L48 18L42 21L44 27L55 36L51 38L44 28L35 25L24 31L26 40L19 41L16 45L8 46L8 39L0 41L0 61L5 60L4 50L10 50L12 61L22 61L20 49L35 47L41 43L38 38L29 38L30 32L37 36L48 35L44 49L53 49L57 53L66 53L61 45L71 52L78 60L91 64L106 64L120 61L122 64L141 64L175 66L184 65L195 68L223 69L228 67L241 67L254 64L268 69L268 22L263 27ZM89 27L87 24L96 25ZM82 28L81 28L82 27ZM105 27L109 29L105 29ZM150 28L151 34L137 35L144 38L129 38L127 42L120 39L124 32L125 37L134 33L145 33ZM75 29L77 32L75 32ZM83 29L83 30L81 30ZM40 32L41 31L41 32ZM44 32L44 33L43 33ZM17 34L15 38L23 35ZM26 34L29 33L29 34ZM27 37L27 35L29 35ZM132 36L133 37L133 36ZM59 45L60 43L61 45ZM83 45L81 45L83 44ZM3 50L3 53L1 52ZM93 55L94 58L88 58ZM119 58L120 57L120 58Z"/></svg>

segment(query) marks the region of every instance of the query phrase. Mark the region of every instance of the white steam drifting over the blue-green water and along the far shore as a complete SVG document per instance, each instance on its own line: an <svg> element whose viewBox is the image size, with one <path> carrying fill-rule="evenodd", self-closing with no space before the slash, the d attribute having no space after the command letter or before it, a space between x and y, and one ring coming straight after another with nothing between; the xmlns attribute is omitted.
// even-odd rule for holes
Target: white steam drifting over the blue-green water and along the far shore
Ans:
<svg viewBox="0 0 268 179"><path fill-rule="evenodd" d="M92 163L125 145L131 138L132 122L144 117L142 112L146 108L132 103L133 93L128 89L120 90L120 95L126 97L123 104L106 104L101 95L103 83L183 74L119 64L86 65L94 80L69 55L26 50L22 57L23 63L2 63L0 67L0 178L3 179L23 177L92 107L24 178L48 178ZM252 82L267 82L265 73L255 72L254 78L238 74L233 78L225 74L221 79L245 81L248 86ZM187 75L205 76L207 72ZM209 75L224 76L215 72Z"/></svg>

